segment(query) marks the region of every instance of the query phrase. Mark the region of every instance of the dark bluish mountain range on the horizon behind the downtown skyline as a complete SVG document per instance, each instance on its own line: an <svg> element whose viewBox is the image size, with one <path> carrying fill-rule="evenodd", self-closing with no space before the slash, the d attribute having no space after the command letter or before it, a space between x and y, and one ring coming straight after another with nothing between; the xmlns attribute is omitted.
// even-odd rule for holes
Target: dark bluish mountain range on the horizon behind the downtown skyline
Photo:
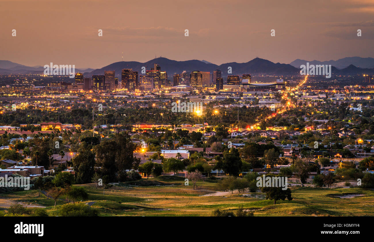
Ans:
<svg viewBox="0 0 374 242"><path fill-rule="evenodd" d="M355 64L350 63L352 61ZM104 66L99 69L75 69L76 72L81 72L85 77L92 77L92 75L104 75L104 71L115 71L116 77L120 78L122 69L133 69L138 71L141 75L142 67L145 66L147 70L153 67L154 63L160 65L162 71L166 71L168 76L171 77L174 73L181 73L183 71L209 71L212 72L219 69L223 72L223 76L227 75L241 75L241 74L270 74L270 75L297 75L300 73L300 65L305 65L306 62L309 64L319 65L332 65L335 63L341 67L350 63L344 68L338 68L332 65L332 74L336 75L357 75L357 74L374 74L374 58L361 58L361 57L348 57L339 59L337 61L331 60L328 62L319 62L317 60L306 61L306 60L294 60L290 64L274 63L269 60L255 58L245 63L230 62L221 65L215 65L206 60L185 60L176 61L167 58L156 58L147 62L137 61L120 61L111 63L110 65ZM371 63L373 62L373 67ZM358 66L360 65L360 66ZM365 68L361 68L365 66ZM366 67L369 66L369 67ZM227 71L231 67L232 73L228 74ZM42 74L44 71L43 66L25 66L18 63L11 62L9 60L0 60L0 74Z"/></svg>

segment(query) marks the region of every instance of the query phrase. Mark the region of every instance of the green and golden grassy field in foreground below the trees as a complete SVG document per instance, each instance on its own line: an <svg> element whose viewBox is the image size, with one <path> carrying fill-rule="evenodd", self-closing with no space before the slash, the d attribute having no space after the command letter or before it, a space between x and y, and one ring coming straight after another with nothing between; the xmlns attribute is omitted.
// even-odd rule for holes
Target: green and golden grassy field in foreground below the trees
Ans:
<svg viewBox="0 0 374 242"><path fill-rule="evenodd" d="M85 187L89 198L84 202L95 202L92 207L97 208L101 216L209 216L216 208L235 210L239 206L254 211L255 216L374 216L373 190L296 186L291 187L292 201L277 201L273 205L273 201L264 199L263 193L226 192L221 196L202 196L221 192L217 181L207 180L197 183L197 187L201 187L198 190L193 190L191 183L184 186L184 178L172 176L119 183L105 189L105 194L102 188L96 189L95 184L76 186ZM334 197L345 193L363 196ZM58 200L53 208L54 201L43 194L38 196L36 190L0 194L0 201L4 199L28 206L43 206L50 214L65 204Z"/></svg>

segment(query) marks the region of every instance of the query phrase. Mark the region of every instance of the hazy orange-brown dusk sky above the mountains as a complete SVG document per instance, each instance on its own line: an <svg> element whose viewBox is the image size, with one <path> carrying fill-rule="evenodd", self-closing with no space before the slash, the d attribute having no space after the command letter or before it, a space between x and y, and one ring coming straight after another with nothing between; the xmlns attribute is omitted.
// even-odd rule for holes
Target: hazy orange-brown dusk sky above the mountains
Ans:
<svg viewBox="0 0 374 242"><path fill-rule="evenodd" d="M373 16L373 0L0 0L0 59L101 68L122 56L217 65L374 57Z"/></svg>

